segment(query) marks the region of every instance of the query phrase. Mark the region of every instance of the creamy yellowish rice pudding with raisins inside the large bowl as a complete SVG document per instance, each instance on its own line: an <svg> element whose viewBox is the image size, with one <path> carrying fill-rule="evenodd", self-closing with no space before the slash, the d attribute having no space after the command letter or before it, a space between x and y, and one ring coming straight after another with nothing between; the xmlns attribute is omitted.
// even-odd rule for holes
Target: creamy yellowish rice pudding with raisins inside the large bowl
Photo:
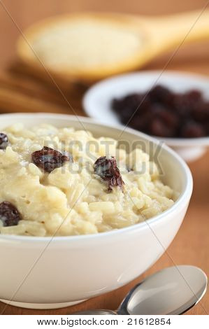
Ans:
<svg viewBox="0 0 209 329"><path fill-rule="evenodd" d="M143 168L143 170L142 170ZM174 193L140 148L71 127L21 123L0 134L0 232L85 235L161 214Z"/></svg>

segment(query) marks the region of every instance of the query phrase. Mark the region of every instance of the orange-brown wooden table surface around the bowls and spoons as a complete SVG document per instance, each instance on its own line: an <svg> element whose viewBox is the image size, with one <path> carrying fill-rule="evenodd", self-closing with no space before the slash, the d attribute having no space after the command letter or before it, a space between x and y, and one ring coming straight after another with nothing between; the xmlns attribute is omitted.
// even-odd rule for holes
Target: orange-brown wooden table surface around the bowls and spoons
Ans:
<svg viewBox="0 0 209 329"><path fill-rule="evenodd" d="M175 13L182 10L192 10L203 8L206 1L202 0L129 0L129 1L103 1L98 0L76 0L76 1L59 1L59 0L4 0L2 6L0 1L0 71L5 71L10 64L15 61L15 40L19 34L17 26L24 29L32 22L45 18L55 13L66 13L78 10L109 10L124 13L138 13L145 15L158 15ZM7 10L7 11L6 11ZM148 64L145 69L162 69L167 62L167 54ZM192 71L203 73L209 76L209 42L196 43L195 45L184 46L178 50L173 57L167 69ZM75 111L82 114L80 98L82 92L71 94L71 104ZM1 104L0 104L1 109ZM1 109L3 111L3 109ZM69 113L71 110L69 109ZM115 309L118 304L138 281L148 274L152 274L159 269L173 265L190 264L201 267L206 274L209 274L209 153L203 158L189 164L194 177L194 193L192 201L187 211L185 221L175 237L173 243L168 248L168 253L164 254L147 272L138 277L135 281L127 286L115 290L106 295L94 297L87 302L75 305L65 309L56 310L29 310L18 307L6 307L4 314L71 314L75 311L87 308ZM172 261L171 261L172 260ZM0 293L1 294L1 293ZM1 295L0 295L1 297ZM0 313L5 304L0 303ZM187 314L208 314L209 313L209 294L206 293L203 300Z"/></svg>

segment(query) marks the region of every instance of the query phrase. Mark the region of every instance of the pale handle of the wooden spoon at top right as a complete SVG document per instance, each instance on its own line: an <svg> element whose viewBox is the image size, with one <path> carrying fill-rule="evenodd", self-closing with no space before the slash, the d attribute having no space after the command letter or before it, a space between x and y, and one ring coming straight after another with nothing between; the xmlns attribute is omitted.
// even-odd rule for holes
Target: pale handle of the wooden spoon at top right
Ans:
<svg viewBox="0 0 209 329"><path fill-rule="evenodd" d="M155 53L182 43L209 40L208 9L149 18L147 23Z"/></svg>

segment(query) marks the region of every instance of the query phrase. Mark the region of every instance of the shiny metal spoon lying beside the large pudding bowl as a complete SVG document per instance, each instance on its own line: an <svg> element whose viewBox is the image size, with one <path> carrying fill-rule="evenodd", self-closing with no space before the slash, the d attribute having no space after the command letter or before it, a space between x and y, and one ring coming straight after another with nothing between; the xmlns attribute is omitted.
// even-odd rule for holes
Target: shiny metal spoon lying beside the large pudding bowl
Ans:
<svg viewBox="0 0 209 329"><path fill-rule="evenodd" d="M76 314L183 314L205 295L207 283L206 274L198 267L168 267L148 276L131 289L117 311L92 309Z"/></svg>

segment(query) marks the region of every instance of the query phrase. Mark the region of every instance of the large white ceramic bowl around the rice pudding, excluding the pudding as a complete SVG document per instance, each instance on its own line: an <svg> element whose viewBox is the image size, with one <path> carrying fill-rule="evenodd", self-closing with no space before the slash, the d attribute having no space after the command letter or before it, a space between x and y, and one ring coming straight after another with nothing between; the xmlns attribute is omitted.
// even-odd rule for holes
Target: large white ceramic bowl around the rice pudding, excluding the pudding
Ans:
<svg viewBox="0 0 209 329"><path fill-rule="evenodd" d="M120 135L120 128L80 121L97 137ZM1 115L0 130L12 123L27 126L50 123L82 129L74 116L50 114ZM143 141L152 157L159 142L127 129L123 139ZM74 237L20 237L0 235L1 300L32 308L75 304L107 293L135 279L164 253L175 237L192 194L192 175L185 162L162 146L159 164L162 179L180 193L171 209L129 228Z"/></svg>

